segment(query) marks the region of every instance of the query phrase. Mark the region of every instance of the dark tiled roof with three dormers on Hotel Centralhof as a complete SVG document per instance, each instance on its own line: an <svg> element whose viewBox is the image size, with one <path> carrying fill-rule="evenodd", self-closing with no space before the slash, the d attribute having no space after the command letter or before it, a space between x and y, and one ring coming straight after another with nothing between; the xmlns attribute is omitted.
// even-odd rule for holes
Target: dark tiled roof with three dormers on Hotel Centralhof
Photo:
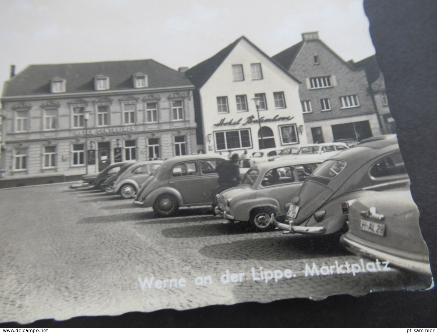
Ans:
<svg viewBox="0 0 437 333"><path fill-rule="evenodd" d="M109 90L132 90L135 73L147 74L148 88L192 86L184 73L153 59L30 65L5 83L3 97L50 94L50 80L59 76L66 79L66 93L95 91L99 74L109 76Z"/></svg>

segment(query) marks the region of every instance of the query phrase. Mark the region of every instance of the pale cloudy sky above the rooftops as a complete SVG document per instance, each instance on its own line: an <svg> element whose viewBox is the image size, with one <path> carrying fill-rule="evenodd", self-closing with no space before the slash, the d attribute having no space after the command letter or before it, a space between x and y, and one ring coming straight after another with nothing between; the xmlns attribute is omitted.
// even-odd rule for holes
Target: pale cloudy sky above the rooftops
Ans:
<svg viewBox="0 0 437 333"><path fill-rule="evenodd" d="M192 67L245 35L274 56L319 38L344 60L375 54L362 0L1 0L0 82L31 64L154 59Z"/></svg>

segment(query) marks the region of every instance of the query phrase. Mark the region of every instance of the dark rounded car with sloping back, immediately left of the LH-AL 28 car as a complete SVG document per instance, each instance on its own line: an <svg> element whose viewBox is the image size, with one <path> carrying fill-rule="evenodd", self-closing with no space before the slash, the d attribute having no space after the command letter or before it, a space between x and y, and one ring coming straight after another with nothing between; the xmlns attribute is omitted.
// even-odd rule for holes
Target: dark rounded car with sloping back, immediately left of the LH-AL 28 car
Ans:
<svg viewBox="0 0 437 333"><path fill-rule="evenodd" d="M289 232L330 234L342 229L347 215L342 202L360 198L363 191L409 186L397 140L364 143L325 160L305 180L291 200L286 216L275 224Z"/></svg>

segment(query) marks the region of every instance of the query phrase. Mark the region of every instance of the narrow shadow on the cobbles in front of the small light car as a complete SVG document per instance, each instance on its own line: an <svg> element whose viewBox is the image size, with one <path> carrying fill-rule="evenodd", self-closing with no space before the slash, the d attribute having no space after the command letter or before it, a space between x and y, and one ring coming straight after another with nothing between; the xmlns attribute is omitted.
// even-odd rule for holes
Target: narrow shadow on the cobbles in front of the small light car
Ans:
<svg viewBox="0 0 437 333"><path fill-rule="evenodd" d="M220 217L214 217L214 219L217 219L217 224L189 225L184 227L169 228L164 229L162 234L164 237L168 238L191 238L239 235L251 232L251 230L248 229L248 223L223 224L223 219ZM203 220L205 220L205 218Z"/></svg>

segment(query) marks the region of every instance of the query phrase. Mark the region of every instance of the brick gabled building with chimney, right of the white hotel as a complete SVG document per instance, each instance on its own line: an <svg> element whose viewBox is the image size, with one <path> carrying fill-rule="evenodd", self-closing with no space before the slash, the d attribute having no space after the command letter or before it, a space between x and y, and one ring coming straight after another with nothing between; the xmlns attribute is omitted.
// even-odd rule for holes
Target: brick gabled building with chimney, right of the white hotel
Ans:
<svg viewBox="0 0 437 333"><path fill-rule="evenodd" d="M299 96L309 142L359 141L381 134L366 73L345 62L317 32L272 57L302 82Z"/></svg>

